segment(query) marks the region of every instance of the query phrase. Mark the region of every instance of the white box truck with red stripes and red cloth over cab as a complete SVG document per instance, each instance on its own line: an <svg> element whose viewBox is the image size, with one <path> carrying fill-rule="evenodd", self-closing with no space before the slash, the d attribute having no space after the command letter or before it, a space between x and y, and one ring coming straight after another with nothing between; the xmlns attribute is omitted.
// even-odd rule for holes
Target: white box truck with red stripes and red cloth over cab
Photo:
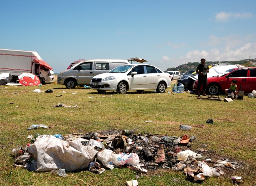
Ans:
<svg viewBox="0 0 256 186"><path fill-rule="evenodd" d="M24 72L38 76L42 84L54 81L52 67L35 51L0 49L0 74L3 72L10 72L13 82Z"/></svg>

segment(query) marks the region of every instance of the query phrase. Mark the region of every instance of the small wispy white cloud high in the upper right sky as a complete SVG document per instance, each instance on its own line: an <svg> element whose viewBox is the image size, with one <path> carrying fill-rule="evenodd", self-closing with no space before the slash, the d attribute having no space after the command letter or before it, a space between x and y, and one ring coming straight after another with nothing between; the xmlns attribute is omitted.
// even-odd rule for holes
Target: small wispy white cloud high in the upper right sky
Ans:
<svg viewBox="0 0 256 186"><path fill-rule="evenodd" d="M216 14L215 20L225 22L228 19L232 19L232 18L247 19L247 18L250 18L252 16L253 16L253 14L249 13L249 12L233 13L233 12L224 12L224 11L222 11L222 12L218 12Z"/></svg>

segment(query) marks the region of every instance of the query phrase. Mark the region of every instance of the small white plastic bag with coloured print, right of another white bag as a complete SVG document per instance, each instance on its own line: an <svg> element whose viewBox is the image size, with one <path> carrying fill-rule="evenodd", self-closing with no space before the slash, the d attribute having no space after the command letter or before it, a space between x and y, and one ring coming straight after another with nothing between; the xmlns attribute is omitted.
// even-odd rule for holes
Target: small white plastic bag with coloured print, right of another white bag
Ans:
<svg viewBox="0 0 256 186"><path fill-rule="evenodd" d="M136 153L119 153L117 154L118 165L132 165L136 166L139 164L139 156ZM115 164L116 165L116 164Z"/></svg>

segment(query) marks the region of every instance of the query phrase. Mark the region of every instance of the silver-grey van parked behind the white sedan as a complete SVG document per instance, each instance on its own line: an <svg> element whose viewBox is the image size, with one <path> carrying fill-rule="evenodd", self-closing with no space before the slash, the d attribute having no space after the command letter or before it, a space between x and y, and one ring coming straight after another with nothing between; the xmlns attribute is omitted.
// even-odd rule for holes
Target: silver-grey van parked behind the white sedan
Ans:
<svg viewBox="0 0 256 186"><path fill-rule="evenodd" d="M123 59L92 59L81 61L70 69L58 74L57 84L65 85L66 88L75 88L80 85L90 85L92 78L121 65L130 64Z"/></svg>

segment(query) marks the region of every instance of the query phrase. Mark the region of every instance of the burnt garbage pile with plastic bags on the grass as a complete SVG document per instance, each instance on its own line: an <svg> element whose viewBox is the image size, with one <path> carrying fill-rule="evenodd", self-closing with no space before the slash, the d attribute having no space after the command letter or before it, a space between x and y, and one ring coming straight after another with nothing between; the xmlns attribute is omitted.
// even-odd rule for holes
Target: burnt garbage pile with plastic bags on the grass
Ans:
<svg viewBox="0 0 256 186"><path fill-rule="evenodd" d="M223 167L236 169L236 162L231 163L228 159L212 161L189 150L195 139L196 136L189 137L187 134L181 137L135 134L132 130L115 130L115 134L109 131L89 132L64 137L60 137L60 134L40 135L34 144L28 144L24 149L14 148L12 152L18 156L16 166L55 174L58 174L56 170L62 169L61 175L65 176L63 169L68 172L88 169L101 174L105 169L127 167L143 174L148 169L166 168L182 170L187 177L197 181L223 175ZM209 166L209 163L213 166Z"/></svg>

